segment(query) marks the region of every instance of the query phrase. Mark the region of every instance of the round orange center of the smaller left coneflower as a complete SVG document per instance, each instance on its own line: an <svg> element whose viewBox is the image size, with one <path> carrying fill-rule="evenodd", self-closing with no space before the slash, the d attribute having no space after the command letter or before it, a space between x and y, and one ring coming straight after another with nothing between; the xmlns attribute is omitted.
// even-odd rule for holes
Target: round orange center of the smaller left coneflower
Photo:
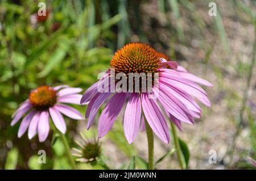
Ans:
<svg viewBox="0 0 256 181"><path fill-rule="evenodd" d="M56 91L49 86L40 86L30 92L30 102L37 110L45 110L55 105Z"/></svg>

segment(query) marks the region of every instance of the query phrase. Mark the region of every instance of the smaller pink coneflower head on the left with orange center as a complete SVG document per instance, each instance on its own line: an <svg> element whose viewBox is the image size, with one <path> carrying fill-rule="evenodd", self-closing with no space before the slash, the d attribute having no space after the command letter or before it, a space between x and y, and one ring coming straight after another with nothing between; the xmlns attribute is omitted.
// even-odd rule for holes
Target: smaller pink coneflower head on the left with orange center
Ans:
<svg viewBox="0 0 256 181"><path fill-rule="evenodd" d="M49 87L40 86L30 92L29 99L25 100L13 114L11 126L16 124L23 115L24 118L19 127L18 137L21 137L28 129L28 138L31 139L38 133L39 141L46 140L50 124L49 115L56 128L61 133L66 132L65 116L72 119L83 119L83 116L75 108L62 103L79 104L81 88L73 88L65 85Z"/></svg>

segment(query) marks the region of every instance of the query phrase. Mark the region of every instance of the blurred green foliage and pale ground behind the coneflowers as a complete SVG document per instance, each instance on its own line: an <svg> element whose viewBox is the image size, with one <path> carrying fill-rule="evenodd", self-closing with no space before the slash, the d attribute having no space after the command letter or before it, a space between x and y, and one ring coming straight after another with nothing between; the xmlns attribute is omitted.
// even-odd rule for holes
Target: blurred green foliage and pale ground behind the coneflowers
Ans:
<svg viewBox="0 0 256 181"><path fill-rule="evenodd" d="M44 18L36 15L39 2L46 3ZM208 13L210 2L217 5L216 16ZM11 115L39 85L86 90L108 69L115 50L131 41L151 45L214 85L204 87L212 107L203 106L202 119L178 132L188 169L254 169L247 157L256 158L255 22L253 0L1 0L0 169L71 169L54 133L43 143L37 136L28 140L27 133L18 138L20 122L11 127ZM85 113L86 106L76 108ZM95 124L86 131L85 121L65 120L73 147L79 132L96 137ZM145 169L146 133L129 145L121 116L100 141L110 168L126 169L135 161L136 169ZM173 148L172 141L166 145L155 137L157 169L179 169ZM37 162L40 149L46 164ZM210 150L217 153L215 164L208 162Z"/></svg>

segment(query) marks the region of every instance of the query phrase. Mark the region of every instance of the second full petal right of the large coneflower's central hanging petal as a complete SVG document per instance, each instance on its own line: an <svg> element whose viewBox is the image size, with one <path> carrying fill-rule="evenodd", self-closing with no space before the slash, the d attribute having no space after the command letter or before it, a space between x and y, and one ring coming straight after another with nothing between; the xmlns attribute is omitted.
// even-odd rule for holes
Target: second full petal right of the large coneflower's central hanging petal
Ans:
<svg viewBox="0 0 256 181"><path fill-rule="evenodd" d="M161 87L161 89L160 89ZM172 113L177 119L186 123L193 123L193 117L185 105L177 99L174 95L164 89L164 85L159 86L159 102L162 104L164 109L169 113Z"/></svg>

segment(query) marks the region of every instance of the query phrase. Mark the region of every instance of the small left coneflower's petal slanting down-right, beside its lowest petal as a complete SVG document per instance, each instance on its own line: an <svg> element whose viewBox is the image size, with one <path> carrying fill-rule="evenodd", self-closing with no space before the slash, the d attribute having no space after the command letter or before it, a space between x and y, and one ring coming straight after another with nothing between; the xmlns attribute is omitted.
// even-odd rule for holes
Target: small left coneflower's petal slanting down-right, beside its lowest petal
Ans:
<svg viewBox="0 0 256 181"><path fill-rule="evenodd" d="M67 131L67 126L61 113L55 107L50 107L49 113L56 128L59 129L61 133L65 133Z"/></svg>

